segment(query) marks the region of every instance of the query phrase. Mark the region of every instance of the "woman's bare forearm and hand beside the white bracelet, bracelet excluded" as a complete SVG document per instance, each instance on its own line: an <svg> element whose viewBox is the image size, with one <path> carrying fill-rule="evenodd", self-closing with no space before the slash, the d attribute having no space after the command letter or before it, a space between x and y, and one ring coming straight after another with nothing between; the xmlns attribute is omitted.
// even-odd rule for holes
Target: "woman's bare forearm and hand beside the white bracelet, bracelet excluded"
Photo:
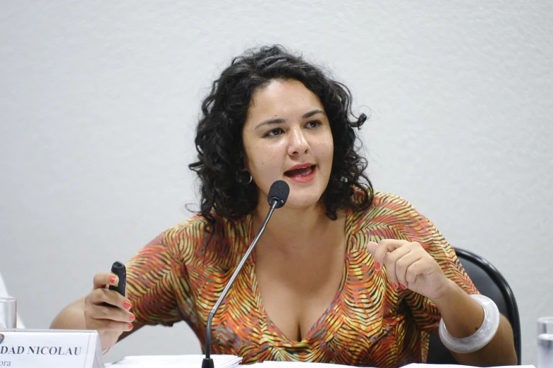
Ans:
<svg viewBox="0 0 553 368"><path fill-rule="evenodd" d="M439 310L447 331L454 338L472 336L484 321L480 303L446 278L436 260L422 245L406 240L369 242L369 252L376 271L386 266L388 281L399 289L408 288L430 299ZM460 364L497 366L516 364L513 330L500 315L499 328L494 337L480 350L460 354L451 352Z"/></svg>

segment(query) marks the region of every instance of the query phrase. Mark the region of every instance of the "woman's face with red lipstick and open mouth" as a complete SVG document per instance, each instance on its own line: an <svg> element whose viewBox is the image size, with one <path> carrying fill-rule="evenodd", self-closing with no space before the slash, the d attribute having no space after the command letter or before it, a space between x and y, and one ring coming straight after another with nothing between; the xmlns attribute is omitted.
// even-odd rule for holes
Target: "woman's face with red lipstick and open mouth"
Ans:
<svg viewBox="0 0 553 368"><path fill-rule="evenodd" d="M290 185L286 207L318 203L329 182L334 142L322 103L303 83L272 80L254 92L242 139L260 201L275 180L284 180Z"/></svg>

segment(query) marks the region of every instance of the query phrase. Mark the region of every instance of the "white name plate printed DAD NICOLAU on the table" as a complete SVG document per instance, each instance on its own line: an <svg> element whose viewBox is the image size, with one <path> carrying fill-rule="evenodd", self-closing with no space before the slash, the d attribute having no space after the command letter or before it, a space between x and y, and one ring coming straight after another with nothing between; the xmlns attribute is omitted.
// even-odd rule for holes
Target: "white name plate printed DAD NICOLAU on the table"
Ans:
<svg viewBox="0 0 553 368"><path fill-rule="evenodd" d="M97 331L0 329L0 368L104 368Z"/></svg>

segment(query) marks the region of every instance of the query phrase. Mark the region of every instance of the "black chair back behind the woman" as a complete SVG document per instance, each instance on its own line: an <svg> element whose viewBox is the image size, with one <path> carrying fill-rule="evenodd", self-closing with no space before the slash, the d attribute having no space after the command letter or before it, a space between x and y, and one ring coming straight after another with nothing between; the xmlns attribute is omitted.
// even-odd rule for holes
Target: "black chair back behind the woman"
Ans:
<svg viewBox="0 0 553 368"><path fill-rule="evenodd" d="M509 320L513 327L513 337L517 364L521 365L521 319L518 315L515 295L502 274L487 260L468 252L468 250L456 249L457 257L474 285L488 298L492 299L499 312ZM428 348L428 363L432 364L457 364L449 350L442 344L439 336L430 336Z"/></svg>

